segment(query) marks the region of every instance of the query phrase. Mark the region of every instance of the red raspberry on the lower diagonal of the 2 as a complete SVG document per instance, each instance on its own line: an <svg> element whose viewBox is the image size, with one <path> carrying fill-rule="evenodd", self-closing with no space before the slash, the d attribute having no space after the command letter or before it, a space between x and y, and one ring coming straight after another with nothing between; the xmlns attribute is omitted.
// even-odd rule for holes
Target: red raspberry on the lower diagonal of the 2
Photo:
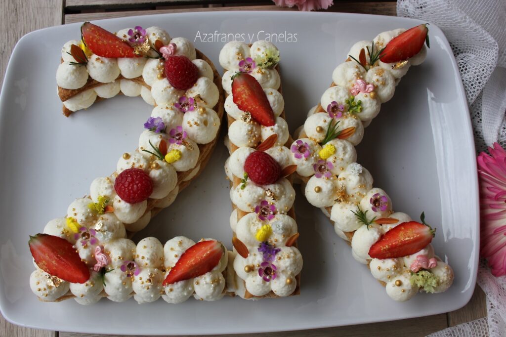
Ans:
<svg viewBox="0 0 506 337"><path fill-rule="evenodd" d="M153 182L140 168L128 168L116 177L114 189L122 200L136 203L146 200L151 195Z"/></svg>

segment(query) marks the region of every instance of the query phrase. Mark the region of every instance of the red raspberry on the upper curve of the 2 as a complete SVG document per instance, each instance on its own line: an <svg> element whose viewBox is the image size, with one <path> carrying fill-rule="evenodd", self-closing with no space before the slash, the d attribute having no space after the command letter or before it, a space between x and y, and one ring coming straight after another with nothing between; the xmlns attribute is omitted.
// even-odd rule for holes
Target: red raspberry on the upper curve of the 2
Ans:
<svg viewBox="0 0 506 337"><path fill-rule="evenodd" d="M174 88L188 90L198 79L198 68L186 56L170 56L165 61L165 76Z"/></svg>

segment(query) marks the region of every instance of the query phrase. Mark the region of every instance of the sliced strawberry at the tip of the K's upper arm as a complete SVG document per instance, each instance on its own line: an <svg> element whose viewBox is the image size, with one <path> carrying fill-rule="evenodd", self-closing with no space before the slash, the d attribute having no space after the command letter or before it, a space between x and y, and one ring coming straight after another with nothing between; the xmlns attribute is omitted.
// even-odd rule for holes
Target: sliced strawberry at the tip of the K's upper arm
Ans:
<svg viewBox="0 0 506 337"><path fill-rule="evenodd" d="M420 52L426 40L427 47L429 47L428 34L427 24L421 24L406 30L387 44L379 59L385 63L394 63L415 56Z"/></svg>

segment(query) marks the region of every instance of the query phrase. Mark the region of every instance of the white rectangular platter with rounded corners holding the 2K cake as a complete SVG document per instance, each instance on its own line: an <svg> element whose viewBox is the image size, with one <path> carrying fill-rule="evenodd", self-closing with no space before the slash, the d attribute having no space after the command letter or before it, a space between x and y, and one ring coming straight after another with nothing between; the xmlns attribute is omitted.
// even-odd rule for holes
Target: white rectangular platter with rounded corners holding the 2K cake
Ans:
<svg viewBox="0 0 506 337"><path fill-rule="evenodd" d="M331 72L359 40L410 28L417 20L338 13L208 12L101 20L117 31L159 26L194 41L217 65L227 40L246 43L270 37L281 55L281 79L290 130L301 125L331 82ZM385 189L394 209L413 218L424 210L437 227L436 252L451 264L455 282L445 293L419 294L396 303L355 262L351 249L302 192L296 200L299 247L304 257L301 295L214 303L162 300L138 305L102 300L91 307L73 300L42 303L28 286L33 271L28 235L63 216L91 181L109 175L125 151L137 147L151 107L141 98L118 96L70 118L61 114L55 73L62 45L79 38L79 24L24 36L16 46L0 97L0 309L11 322L30 327L116 334L204 334L307 329L396 320L455 310L476 281L479 208L475 150L469 111L455 59L441 30L430 25L425 63L412 67L394 98L382 106L358 146L358 162ZM204 33L206 38L204 38ZM198 37L200 35L200 37ZM291 38L288 38L291 36ZM223 140L223 134L222 134ZM214 237L231 248L231 212L217 146L206 170L134 240L185 235ZM299 187L296 187L299 192ZM198 212L196 212L196 210Z"/></svg>

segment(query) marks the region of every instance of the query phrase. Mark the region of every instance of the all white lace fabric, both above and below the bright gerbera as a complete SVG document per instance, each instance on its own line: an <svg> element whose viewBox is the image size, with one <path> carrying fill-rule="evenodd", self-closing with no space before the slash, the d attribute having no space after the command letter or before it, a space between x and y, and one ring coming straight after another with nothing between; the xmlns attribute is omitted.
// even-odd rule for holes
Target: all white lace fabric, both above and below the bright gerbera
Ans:
<svg viewBox="0 0 506 337"><path fill-rule="evenodd" d="M484 151L493 142L505 148L506 0L398 0L397 15L441 28L466 90L476 150ZM487 296L487 317L431 337L506 337L506 276L492 276L482 261L478 284Z"/></svg>

